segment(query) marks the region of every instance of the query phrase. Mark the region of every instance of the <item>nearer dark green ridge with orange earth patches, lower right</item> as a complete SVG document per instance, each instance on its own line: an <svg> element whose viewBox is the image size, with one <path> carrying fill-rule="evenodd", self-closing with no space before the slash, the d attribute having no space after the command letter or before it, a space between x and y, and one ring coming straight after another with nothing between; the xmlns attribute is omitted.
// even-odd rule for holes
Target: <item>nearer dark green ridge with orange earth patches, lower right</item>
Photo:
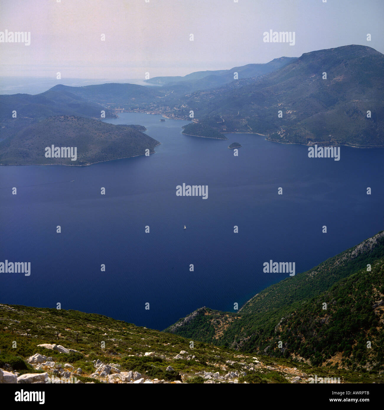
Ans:
<svg viewBox="0 0 384 410"><path fill-rule="evenodd" d="M372 262L372 261L370 261ZM383 370L384 363L384 260L339 280L329 290L303 303L295 312L280 321L266 352L288 357L297 352L311 363L323 362L342 366L366 366ZM327 309L323 309L327 303ZM278 349L278 340L284 340ZM367 348L367 341L371 347ZM252 337L246 342L252 346ZM315 353L314 353L315 352Z"/></svg>

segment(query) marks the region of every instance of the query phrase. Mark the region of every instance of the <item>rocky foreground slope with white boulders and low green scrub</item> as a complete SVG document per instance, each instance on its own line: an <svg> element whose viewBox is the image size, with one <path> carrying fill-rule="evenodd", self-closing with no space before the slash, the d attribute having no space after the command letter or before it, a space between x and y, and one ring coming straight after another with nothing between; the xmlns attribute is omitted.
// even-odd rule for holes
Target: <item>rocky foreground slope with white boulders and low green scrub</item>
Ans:
<svg viewBox="0 0 384 410"><path fill-rule="evenodd" d="M354 374L74 310L0 305L0 383L308 383ZM375 376L361 382L378 382Z"/></svg>

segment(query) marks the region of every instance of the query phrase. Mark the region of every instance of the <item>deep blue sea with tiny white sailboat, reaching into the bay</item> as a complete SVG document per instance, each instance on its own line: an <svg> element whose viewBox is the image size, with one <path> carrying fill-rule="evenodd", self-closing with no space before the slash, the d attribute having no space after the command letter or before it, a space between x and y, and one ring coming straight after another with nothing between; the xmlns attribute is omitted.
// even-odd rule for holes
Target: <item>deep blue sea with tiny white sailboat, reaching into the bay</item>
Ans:
<svg viewBox="0 0 384 410"><path fill-rule="evenodd" d="M289 277L263 273L264 262L295 262L298 274L384 229L384 149L308 158L259 135L184 136L185 121L159 118L105 120L148 128L161 142L149 157L0 167L0 261L31 262L28 277L0 274L0 303L59 302L164 329L198 307L233 311ZM176 196L183 182L208 185L208 199Z"/></svg>

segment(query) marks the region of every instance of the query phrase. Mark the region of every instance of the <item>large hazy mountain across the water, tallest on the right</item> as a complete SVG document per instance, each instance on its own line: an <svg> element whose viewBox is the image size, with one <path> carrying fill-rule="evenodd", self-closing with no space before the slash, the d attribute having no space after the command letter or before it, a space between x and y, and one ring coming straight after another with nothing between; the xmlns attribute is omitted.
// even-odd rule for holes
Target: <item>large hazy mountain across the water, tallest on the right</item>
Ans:
<svg viewBox="0 0 384 410"><path fill-rule="evenodd" d="M304 53L251 83L194 92L180 105L219 132L270 134L283 143L384 146L383 79L384 55L343 46Z"/></svg>

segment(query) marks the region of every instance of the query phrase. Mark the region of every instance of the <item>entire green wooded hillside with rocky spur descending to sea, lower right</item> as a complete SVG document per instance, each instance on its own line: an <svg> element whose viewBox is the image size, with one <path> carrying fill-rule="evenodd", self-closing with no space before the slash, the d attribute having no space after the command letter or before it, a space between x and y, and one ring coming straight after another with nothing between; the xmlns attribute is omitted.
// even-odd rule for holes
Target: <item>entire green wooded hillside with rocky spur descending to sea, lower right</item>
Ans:
<svg viewBox="0 0 384 410"><path fill-rule="evenodd" d="M238 312L203 307L165 331L316 366L383 371L383 299L384 231L267 287Z"/></svg>

